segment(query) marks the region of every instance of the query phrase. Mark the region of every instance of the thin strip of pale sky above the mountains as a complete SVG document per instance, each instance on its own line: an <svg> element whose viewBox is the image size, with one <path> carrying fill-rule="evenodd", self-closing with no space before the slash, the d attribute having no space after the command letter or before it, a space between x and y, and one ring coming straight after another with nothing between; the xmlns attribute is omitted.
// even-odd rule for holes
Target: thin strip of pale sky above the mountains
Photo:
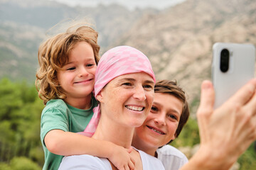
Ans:
<svg viewBox="0 0 256 170"><path fill-rule="evenodd" d="M70 6L97 6L97 4L121 4L129 9L153 7L163 9L169 6L174 6L186 0L50 0L58 1Z"/></svg>

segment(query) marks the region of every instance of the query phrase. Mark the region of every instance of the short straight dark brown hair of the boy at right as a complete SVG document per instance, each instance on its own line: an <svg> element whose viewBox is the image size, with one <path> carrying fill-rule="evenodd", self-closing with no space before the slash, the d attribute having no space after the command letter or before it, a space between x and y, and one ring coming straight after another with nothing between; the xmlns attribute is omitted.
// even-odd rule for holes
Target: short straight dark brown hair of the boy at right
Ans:
<svg viewBox="0 0 256 170"><path fill-rule="evenodd" d="M156 81L156 84L154 86L154 92L173 95L183 103L181 118L178 123L178 128L175 132L175 137L178 137L178 135L181 133L183 126L188 121L190 113L185 91L183 91L181 87L177 86L176 81L161 80ZM169 143L171 142L172 140Z"/></svg>

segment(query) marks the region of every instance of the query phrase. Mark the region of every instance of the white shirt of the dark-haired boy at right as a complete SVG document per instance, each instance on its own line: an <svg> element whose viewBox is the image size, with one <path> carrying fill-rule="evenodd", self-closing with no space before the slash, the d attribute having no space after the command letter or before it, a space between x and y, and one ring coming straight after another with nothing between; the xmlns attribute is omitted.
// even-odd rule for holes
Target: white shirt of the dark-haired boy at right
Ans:
<svg viewBox="0 0 256 170"><path fill-rule="evenodd" d="M178 170L188 162L187 157L181 151L171 145L164 145L156 150L158 159L164 164L166 170Z"/></svg>

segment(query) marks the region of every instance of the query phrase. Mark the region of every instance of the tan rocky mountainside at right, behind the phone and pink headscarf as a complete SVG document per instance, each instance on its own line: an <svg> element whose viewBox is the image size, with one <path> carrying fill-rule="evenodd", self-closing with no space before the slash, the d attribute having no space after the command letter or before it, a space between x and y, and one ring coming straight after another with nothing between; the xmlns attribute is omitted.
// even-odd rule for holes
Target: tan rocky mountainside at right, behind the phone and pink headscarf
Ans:
<svg viewBox="0 0 256 170"><path fill-rule="evenodd" d="M176 79L188 92L191 106L197 107L201 82L210 79L215 42L256 45L256 1L187 0L144 16L114 45L142 50L156 77Z"/></svg>

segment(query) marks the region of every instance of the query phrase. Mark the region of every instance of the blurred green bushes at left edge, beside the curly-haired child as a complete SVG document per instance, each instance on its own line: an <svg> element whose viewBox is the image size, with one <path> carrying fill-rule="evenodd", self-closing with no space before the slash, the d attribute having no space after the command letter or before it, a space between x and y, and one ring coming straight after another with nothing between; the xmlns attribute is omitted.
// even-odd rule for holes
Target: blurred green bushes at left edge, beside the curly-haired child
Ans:
<svg viewBox="0 0 256 170"><path fill-rule="evenodd" d="M29 167L36 167L30 165L31 162L42 166L40 120L44 106L38 98L36 87L24 81L14 83L1 79L0 101L0 161L3 162L0 169L9 169L9 163L14 169L16 162L22 160Z"/></svg>

